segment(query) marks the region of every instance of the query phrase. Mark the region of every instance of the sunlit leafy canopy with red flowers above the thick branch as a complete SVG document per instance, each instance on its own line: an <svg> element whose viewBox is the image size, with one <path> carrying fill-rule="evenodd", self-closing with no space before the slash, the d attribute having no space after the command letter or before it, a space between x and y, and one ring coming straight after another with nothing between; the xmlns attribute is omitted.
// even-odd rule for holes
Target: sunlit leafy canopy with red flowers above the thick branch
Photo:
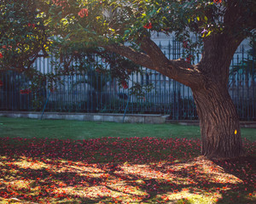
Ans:
<svg viewBox="0 0 256 204"><path fill-rule="evenodd" d="M255 2L242 1L63 1L49 2L49 25L62 42L91 47L129 42L137 48L153 31L175 33L185 47L198 40L230 35L237 40L255 35ZM70 44L69 44L70 45Z"/></svg>

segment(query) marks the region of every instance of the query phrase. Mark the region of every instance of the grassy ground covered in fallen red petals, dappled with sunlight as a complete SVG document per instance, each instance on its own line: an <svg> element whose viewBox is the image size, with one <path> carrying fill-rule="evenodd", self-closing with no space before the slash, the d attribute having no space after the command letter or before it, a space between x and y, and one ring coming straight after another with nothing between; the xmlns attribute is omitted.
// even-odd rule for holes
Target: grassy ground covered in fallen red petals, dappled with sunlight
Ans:
<svg viewBox="0 0 256 204"><path fill-rule="evenodd" d="M250 156L210 161L200 139L0 139L0 203L254 203Z"/></svg>

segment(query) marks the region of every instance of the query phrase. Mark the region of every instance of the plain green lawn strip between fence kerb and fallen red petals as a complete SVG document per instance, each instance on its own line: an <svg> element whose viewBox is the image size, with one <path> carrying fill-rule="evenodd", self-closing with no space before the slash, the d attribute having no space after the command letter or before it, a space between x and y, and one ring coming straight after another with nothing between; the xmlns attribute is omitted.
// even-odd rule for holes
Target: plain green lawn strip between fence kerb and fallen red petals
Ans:
<svg viewBox="0 0 256 204"><path fill-rule="evenodd" d="M255 141L255 128L241 128L243 138ZM0 117L0 137L95 139L156 137L199 139L200 127L175 124L80 122Z"/></svg>

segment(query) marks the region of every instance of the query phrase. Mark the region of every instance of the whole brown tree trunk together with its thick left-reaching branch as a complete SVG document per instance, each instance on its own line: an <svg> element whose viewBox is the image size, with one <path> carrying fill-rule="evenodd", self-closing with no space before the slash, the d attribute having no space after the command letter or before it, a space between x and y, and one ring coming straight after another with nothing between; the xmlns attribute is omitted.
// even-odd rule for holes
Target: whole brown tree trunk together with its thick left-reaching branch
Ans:
<svg viewBox="0 0 256 204"><path fill-rule="evenodd" d="M230 62L241 40L228 34L207 37L197 65L167 59L150 38L141 42L145 54L125 46L108 49L190 87L201 124L201 154L224 159L243 155L239 118L227 87Z"/></svg>

